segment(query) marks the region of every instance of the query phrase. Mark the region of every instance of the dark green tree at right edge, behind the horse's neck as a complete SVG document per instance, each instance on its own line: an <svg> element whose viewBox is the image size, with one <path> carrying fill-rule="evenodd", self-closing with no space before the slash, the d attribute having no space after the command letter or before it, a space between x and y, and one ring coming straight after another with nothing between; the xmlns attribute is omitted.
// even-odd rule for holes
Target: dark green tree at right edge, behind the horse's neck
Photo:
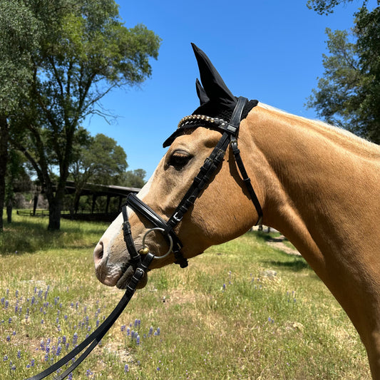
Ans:
<svg viewBox="0 0 380 380"><path fill-rule="evenodd" d="M324 77L307 106L327 122L379 144L380 7L363 6L355 16L352 31L327 29Z"/></svg>

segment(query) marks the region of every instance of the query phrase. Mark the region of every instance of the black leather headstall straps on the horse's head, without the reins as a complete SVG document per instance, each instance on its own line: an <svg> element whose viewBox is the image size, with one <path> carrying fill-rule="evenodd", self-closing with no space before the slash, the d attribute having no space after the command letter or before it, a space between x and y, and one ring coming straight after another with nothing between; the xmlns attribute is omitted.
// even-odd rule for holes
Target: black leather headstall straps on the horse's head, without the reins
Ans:
<svg viewBox="0 0 380 380"><path fill-rule="evenodd" d="M205 115L190 115L186 116L180 123L178 124L178 130L173 133L173 135L165 141L164 147L170 145L173 140L180 135L183 129L186 128L197 128L198 126L203 126L205 128L210 128L214 130L218 130L222 133L222 137L219 142L215 146L214 150L209 157L205 159L205 163L203 163L202 168L200 168L199 173L195 176L192 181L192 185L189 190L186 192L183 199L180 201L180 204L173 212L173 215L168 219L168 221L163 220L160 215L158 215L154 210L152 210L148 205L146 205L142 200L140 200L135 194L129 194L127 197L127 202L123 206L123 233L124 240L127 246L130 262L133 267L138 267L141 262L141 255L146 255L149 252L148 247L145 247L145 237L148 233L153 231L158 231L163 234L165 240L168 242L168 246L170 247L168 252L164 256L155 256L156 259L160 259L168 256L173 252L175 256L175 264L180 265L181 268L185 268L188 266L188 260L183 257L181 252L183 248L183 244L176 235L174 228L178 225L178 223L183 220L183 216L188 209L194 205L195 200L200 195L200 192L205 185L210 182L212 175L215 174L217 168L222 162L225 152L227 150L228 145L231 146L232 153L235 157L235 161L237 163L237 168L239 168L240 175L242 177L243 182L247 188L247 191L250 195L250 198L255 205L255 209L258 215L258 219L256 225L261 224L262 222L262 207L257 198L255 190L252 188L251 180L247 175L247 171L245 170L245 166L242 163L242 158L240 157L240 150L237 148L237 135L239 133L239 125L240 120L242 118L242 111L247 103L247 98L240 97L237 99L237 105L232 113L232 117L229 123L220 118L210 118ZM256 103L257 104L257 103ZM148 220L153 225L153 228L145 232L143 237L143 249L137 251L135 244L133 242L132 233L130 230L130 223L128 220L128 212L126 207L130 207L134 212L140 213L145 219Z"/></svg>

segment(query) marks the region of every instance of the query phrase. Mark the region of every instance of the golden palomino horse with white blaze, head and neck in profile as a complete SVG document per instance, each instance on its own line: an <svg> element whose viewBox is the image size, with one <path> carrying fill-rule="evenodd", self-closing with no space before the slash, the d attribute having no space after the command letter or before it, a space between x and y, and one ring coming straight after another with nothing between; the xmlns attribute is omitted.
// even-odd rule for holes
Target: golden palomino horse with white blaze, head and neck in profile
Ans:
<svg viewBox="0 0 380 380"><path fill-rule="evenodd" d="M246 108L250 106L240 110L237 141L254 192L246 186L247 178L242 180L230 145L192 199L194 204L169 231L165 220L173 222L173 212L194 187L200 167L210 160L207 157L224 133L213 128L210 119L222 118L230 125L237 106L207 56L193 48L204 86L197 82L201 105L195 114L208 118L185 118L168 140L168 152L138 195L161 217L163 228L150 233L157 223L139 212L142 206L134 206L135 212L128 210L132 245L135 250L144 247L142 254L148 249L163 256L168 240L173 241L168 236L175 235L182 242L177 258L169 254L153 260L151 267L175 260L185 266L183 257L189 259L210 245L242 235L262 211L262 223L281 231L297 247L342 305L366 347L373 378L380 379L379 146L318 121L246 103ZM103 284L125 288L133 266L122 224L120 214L101 237L94 260Z"/></svg>

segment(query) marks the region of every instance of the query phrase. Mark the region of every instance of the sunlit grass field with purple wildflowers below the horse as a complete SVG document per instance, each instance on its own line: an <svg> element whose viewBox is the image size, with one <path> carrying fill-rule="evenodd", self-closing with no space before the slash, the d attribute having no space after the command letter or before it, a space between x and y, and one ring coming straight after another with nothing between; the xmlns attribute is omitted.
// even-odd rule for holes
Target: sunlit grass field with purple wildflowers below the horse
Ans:
<svg viewBox="0 0 380 380"><path fill-rule="evenodd" d="M0 235L0 379L81 342L123 292L95 277L104 224L14 215ZM302 257L246 235L153 271L71 379L369 379L354 327ZM275 272L275 273L274 273ZM275 274L275 275L274 275Z"/></svg>

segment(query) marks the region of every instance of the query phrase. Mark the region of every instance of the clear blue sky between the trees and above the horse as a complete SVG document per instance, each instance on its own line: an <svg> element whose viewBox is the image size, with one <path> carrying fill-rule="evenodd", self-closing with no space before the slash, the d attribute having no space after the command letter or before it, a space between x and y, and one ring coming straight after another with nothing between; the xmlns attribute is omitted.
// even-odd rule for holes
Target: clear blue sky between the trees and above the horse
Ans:
<svg viewBox="0 0 380 380"><path fill-rule="evenodd" d="M128 169L143 168L147 180L165 154L165 138L198 106L190 42L205 51L235 96L317 118L304 103L323 75L325 29L351 28L361 4L319 16L307 9L307 0L117 2L125 26L145 24L162 38L158 60L151 61L153 75L141 86L103 98L102 106L118 115L111 124L93 116L84 126L114 138L127 154Z"/></svg>

